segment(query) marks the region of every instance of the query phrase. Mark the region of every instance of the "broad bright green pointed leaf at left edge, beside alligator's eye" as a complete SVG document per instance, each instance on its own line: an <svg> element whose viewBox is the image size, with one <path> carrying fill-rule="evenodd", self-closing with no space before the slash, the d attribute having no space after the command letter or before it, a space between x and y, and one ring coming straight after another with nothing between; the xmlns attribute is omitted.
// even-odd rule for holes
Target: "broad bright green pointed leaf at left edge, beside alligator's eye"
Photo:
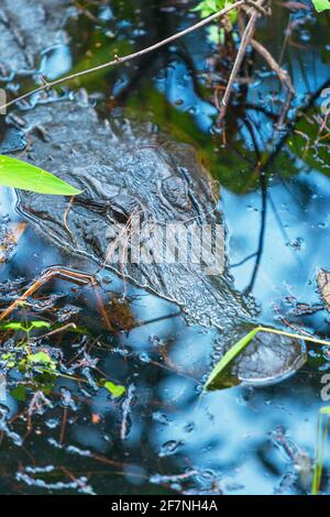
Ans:
<svg viewBox="0 0 330 517"><path fill-rule="evenodd" d="M1 154L0 185L38 194L53 194L55 196L76 196L81 194L81 190L72 187L66 182L42 168Z"/></svg>

